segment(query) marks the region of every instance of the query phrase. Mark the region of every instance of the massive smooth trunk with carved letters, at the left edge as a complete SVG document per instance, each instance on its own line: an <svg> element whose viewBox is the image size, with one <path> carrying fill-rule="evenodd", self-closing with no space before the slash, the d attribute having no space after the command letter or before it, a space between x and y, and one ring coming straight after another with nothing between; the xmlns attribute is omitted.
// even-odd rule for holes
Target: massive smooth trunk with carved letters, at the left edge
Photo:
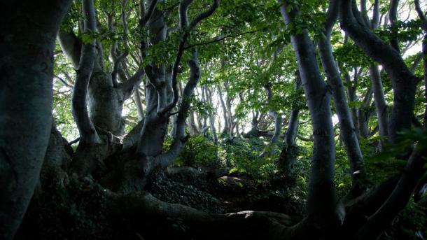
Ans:
<svg viewBox="0 0 427 240"><path fill-rule="evenodd" d="M70 3L0 3L0 239L13 239L38 182L52 126L55 39Z"/></svg>

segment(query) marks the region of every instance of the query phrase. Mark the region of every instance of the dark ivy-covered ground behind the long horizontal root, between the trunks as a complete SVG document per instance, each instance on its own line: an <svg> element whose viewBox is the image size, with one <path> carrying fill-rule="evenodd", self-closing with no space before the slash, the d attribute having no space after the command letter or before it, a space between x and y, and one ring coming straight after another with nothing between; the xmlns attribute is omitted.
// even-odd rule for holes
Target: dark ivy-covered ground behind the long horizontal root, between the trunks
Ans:
<svg viewBox="0 0 427 240"><path fill-rule="evenodd" d="M274 211L301 216L303 201L297 201L286 188L291 179L274 178L257 182L249 176L231 174L212 178L207 174L158 174L148 192L162 201L183 204L209 213ZM286 183L288 182L288 183Z"/></svg>

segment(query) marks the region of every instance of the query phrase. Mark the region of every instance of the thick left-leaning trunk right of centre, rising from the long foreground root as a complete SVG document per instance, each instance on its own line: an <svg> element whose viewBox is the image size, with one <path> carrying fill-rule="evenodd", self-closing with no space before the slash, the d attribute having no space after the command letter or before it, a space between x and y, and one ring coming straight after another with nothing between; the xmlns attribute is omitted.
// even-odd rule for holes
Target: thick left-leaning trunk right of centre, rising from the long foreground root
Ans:
<svg viewBox="0 0 427 240"><path fill-rule="evenodd" d="M295 21L300 15L297 6L292 5L288 12L288 2L279 0L280 11L286 25ZM302 87L307 98L311 122L313 125L314 149L311 160L311 174L309 192L307 196L307 217L301 223L313 223L311 234L322 235L329 227L342 224L344 216L338 210L338 200L335 191L335 140L330 112L330 92L321 78L316 60L316 51L309 38L307 29L300 33L293 33L290 37L298 69L302 80ZM297 227L298 229L298 227ZM298 230L297 230L298 231ZM307 231L301 227L299 231ZM301 234L304 234L301 232Z"/></svg>

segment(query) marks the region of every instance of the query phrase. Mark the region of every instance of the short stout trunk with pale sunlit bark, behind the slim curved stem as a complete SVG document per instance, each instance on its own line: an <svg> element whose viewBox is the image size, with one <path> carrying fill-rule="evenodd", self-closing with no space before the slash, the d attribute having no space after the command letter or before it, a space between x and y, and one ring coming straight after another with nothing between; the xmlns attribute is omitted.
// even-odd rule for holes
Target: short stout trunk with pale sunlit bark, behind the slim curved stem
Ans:
<svg viewBox="0 0 427 240"><path fill-rule="evenodd" d="M95 26L96 29L96 26ZM62 51L78 69L80 59L81 41L73 32L59 31L59 43ZM115 44L116 45L116 44ZM117 48L112 48L111 57L114 59L112 73L106 72L99 62L97 55L93 55L94 67L90 77L87 90L87 103L89 105L89 116L94 126L111 132L113 135L123 135L125 120L122 118L123 102L132 96L132 92L141 83L144 69L138 69L133 76L127 79L123 72L123 62L127 57L127 51L117 55ZM118 75L122 81L118 81Z"/></svg>

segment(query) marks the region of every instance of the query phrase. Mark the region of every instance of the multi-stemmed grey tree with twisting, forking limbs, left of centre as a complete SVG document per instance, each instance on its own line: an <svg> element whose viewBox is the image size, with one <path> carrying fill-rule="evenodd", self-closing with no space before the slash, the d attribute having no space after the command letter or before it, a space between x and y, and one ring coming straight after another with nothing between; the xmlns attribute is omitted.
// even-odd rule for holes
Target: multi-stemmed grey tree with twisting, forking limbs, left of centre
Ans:
<svg viewBox="0 0 427 240"><path fill-rule="evenodd" d="M168 71L165 70L166 67L163 65L157 66L151 63L146 66L146 75L149 82L148 87L146 87L146 118L144 119L144 124L141 129L141 136L136 153L132 159L123 164L122 175L124 179L118 187L120 192L131 192L144 188L146 178L151 174L151 171L158 167L165 168L168 167L169 164L172 164L174 158L179 154L184 143L188 139L188 136L183 136L183 134L185 121L190 108L189 99L200 78L197 50L193 50L193 58L188 62L190 66L190 78L183 91L183 97L181 98L179 115L176 118L174 142L167 152L162 153L162 143L167 132L167 122L170 117L169 112L176 106L179 100L177 76L188 36L200 21L214 13L219 3L218 0L214 0L208 10L200 13L189 22L187 11L188 6L190 6L192 2L193 0L181 1L179 4L179 26L183 34L181 35L181 41L179 42L174 65L172 66L172 77L169 78L169 76L165 76L165 73ZM151 2L151 5L152 4L153 1ZM165 41L167 37L167 27L162 12L158 8L154 8L153 17L151 17L150 21L148 26L151 32L151 43L154 45L160 43L160 41ZM167 80L170 80L171 83L165 83ZM172 92L169 90L168 93L166 86L169 84L172 85ZM172 94L172 97L168 97L168 94ZM168 101L169 99L170 101Z"/></svg>

